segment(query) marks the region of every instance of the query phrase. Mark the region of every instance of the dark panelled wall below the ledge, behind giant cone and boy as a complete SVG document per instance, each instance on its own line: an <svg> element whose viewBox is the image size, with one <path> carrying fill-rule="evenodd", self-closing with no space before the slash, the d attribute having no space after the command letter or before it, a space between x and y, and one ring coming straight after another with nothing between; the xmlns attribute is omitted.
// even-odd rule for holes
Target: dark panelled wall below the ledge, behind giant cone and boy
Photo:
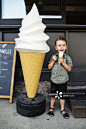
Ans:
<svg viewBox="0 0 86 129"><path fill-rule="evenodd" d="M67 39L68 49L66 53L72 57L74 67L69 73L70 80L68 85L86 85L86 31L76 30L53 30L46 31L50 36L47 44L50 51L46 53L45 61L40 77L40 81L50 81L51 70L48 70L48 62L52 54L56 53L55 39L62 35ZM0 41L14 41L18 37L17 32L0 32ZM15 82L23 82L23 72L20 62L19 53L16 58Z"/></svg>

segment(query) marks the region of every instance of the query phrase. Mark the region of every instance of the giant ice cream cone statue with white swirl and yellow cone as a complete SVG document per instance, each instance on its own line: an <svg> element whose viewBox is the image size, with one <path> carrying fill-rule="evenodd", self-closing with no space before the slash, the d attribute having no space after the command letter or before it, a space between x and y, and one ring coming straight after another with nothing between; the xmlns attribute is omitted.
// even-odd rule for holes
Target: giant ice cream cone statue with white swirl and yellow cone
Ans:
<svg viewBox="0 0 86 129"><path fill-rule="evenodd" d="M41 70L46 52L50 50L46 41L49 36L44 33L46 26L42 23L36 5L22 20L19 38L15 39L15 49L19 51L24 81L29 98L36 95Z"/></svg>

